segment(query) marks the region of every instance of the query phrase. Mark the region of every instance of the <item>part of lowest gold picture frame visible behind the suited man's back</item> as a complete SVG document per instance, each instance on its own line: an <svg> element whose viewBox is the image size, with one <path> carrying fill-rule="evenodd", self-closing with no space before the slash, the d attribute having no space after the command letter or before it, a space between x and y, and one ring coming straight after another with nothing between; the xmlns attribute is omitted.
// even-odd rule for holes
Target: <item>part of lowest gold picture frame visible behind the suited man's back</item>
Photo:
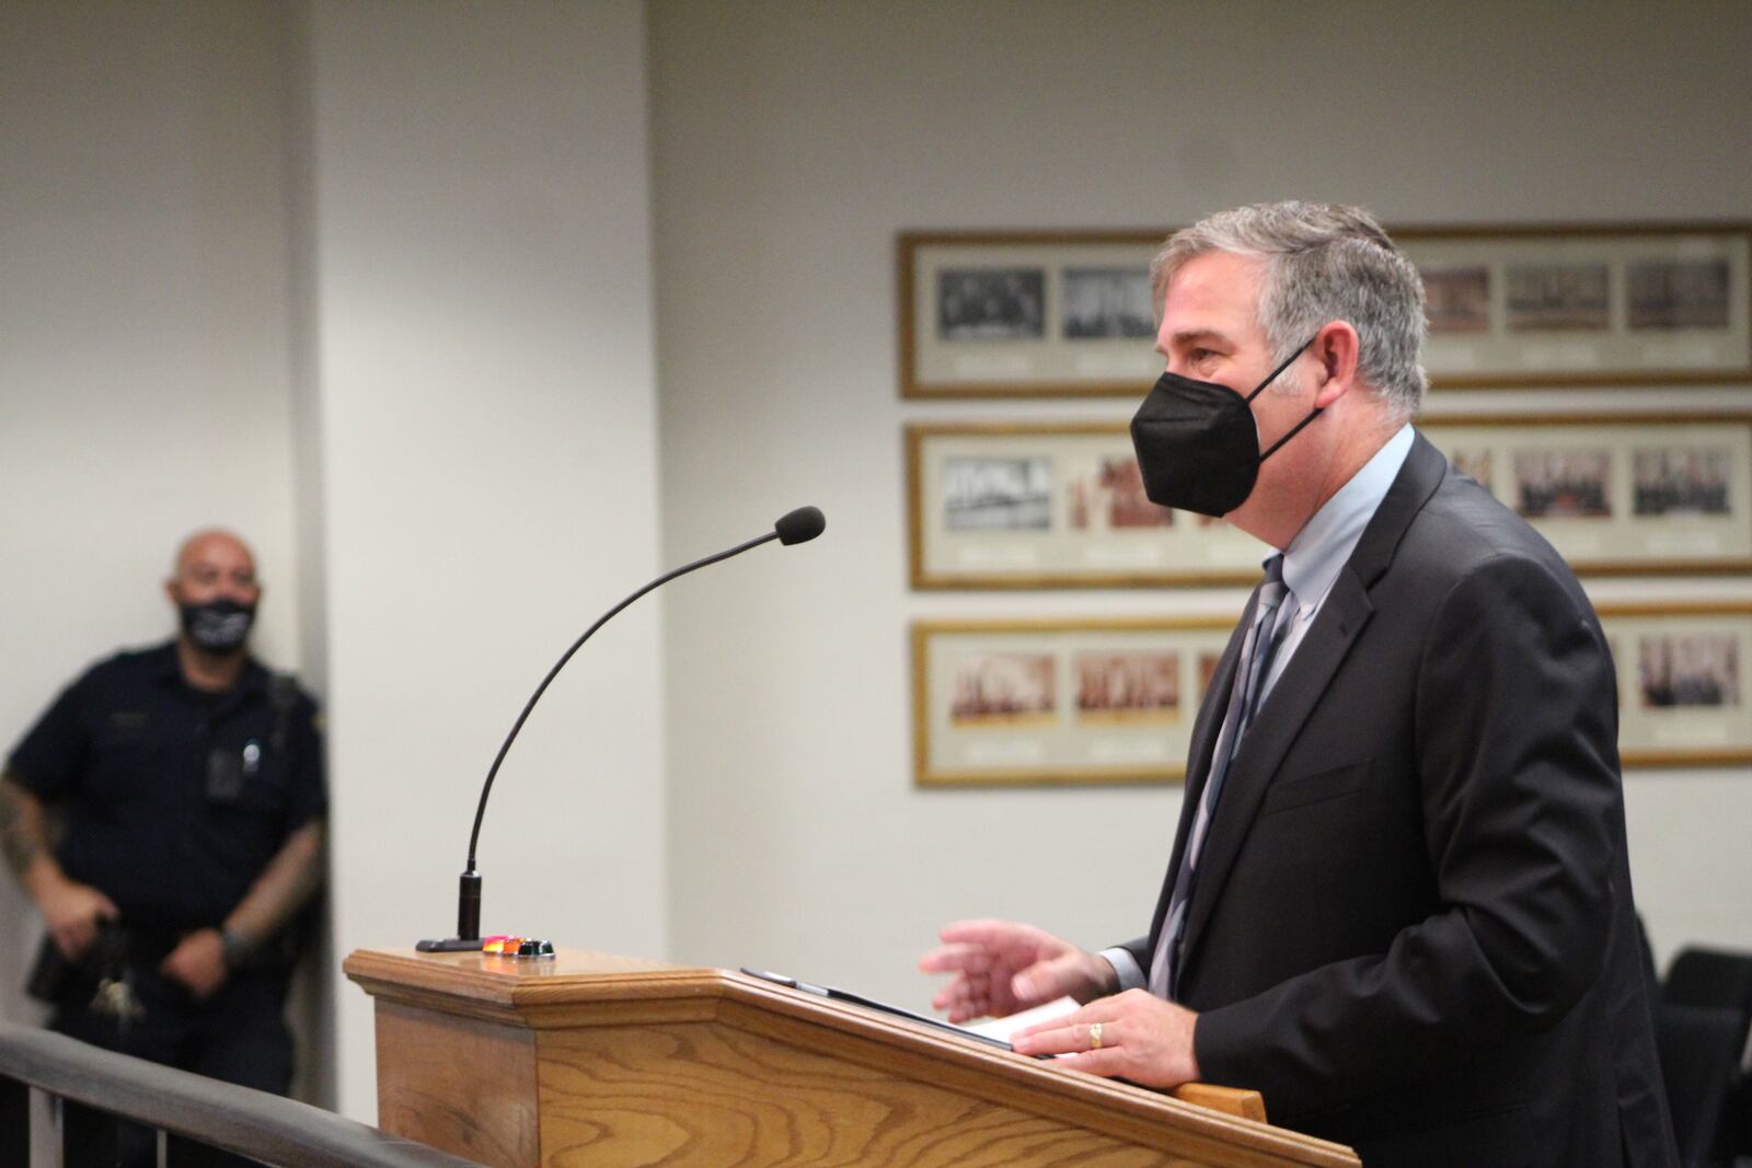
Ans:
<svg viewBox="0 0 1752 1168"><path fill-rule="evenodd" d="M1626 767L1752 762L1752 602L1601 604Z"/></svg>

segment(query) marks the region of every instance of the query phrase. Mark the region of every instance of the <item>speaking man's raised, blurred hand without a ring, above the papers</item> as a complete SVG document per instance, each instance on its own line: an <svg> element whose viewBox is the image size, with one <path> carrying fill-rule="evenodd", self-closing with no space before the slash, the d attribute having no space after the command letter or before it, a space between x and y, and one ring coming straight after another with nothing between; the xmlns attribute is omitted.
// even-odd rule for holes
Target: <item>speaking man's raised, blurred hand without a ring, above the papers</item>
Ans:
<svg viewBox="0 0 1752 1168"><path fill-rule="evenodd" d="M943 946L922 956L918 968L955 974L932 1000L951 1023L1004 1017L1067 995L1088 1002L1120 984L1107 961L1032 925L957 921L939 937Z"/></svg>

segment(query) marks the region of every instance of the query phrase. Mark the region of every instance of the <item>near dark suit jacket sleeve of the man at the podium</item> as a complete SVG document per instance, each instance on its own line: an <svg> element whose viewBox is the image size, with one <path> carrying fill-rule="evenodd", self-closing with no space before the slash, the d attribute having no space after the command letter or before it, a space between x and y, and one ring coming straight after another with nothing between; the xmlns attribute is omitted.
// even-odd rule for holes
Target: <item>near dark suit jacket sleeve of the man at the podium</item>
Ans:
<svg viewBox="0 0 1752 1168"><path fill-rule="evenodd" d="M1416 774L1384 777L1417 785L1442 911L1384 953L1197 1023L1204 1077L1260 1087L1284 1112L1340 1107L1554 1026L1603 963L1619 770L1600 627L1573 581L1515 553L1433 604Z"/></svg>

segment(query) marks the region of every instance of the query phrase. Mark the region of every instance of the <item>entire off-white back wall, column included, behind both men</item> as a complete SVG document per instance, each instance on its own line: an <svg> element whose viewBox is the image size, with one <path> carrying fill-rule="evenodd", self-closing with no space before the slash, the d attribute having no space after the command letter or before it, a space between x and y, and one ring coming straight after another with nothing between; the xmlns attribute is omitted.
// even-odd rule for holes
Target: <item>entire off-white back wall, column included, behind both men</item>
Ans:
<svg viewBox="0 0 1752 1168"><path fill-rule="evenodd" d="M1125 935L1179 793L915 792L906 625L1239 594L906 588L902 422L1128 406L902 406L895 231L1288 194L1745 215L1748 54L1740 4L0 4L0 734L166 634L175 539L238 527L259 648L331 711L335 951L410 944L452 928L478 779L566 641L818 503L823 539L641 601L555 685L482 841L485 925L915 1003L951 914ZM1431 410L1654 401L1748 396ZM1628 807L1663 953L1752 947L1720 895L1752 881L1752 770L1633 774ZM0 939L32 937L0 888ZM0 946L7 1017L25 956ZM370 1119L368 1003L329 993Z"/></svg>

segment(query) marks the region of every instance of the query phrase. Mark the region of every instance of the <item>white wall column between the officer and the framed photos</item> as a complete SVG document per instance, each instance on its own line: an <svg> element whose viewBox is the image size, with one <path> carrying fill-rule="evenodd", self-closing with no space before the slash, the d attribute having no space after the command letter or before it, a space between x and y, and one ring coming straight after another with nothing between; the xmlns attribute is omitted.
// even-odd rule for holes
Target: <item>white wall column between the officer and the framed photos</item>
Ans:
<svg viewBox="0 0 1752 1168"><path fill-rule="evenodd" d="M456 930L499 739L657 564L641 12L322 2L308 268L336 951ZM482 925L664 949L661 601L554 683L499 774ZM336 988L342 1107L375 1114Z"/></svg>

